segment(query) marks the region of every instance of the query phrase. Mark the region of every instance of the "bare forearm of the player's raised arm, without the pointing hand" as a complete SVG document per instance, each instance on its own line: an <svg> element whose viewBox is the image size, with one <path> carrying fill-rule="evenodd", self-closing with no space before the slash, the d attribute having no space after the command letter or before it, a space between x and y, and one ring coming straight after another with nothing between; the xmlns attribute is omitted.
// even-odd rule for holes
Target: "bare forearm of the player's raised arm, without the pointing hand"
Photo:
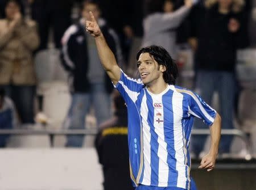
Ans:
<svg viewBox="0 0 256 190"><path fill-rule="evenodd" d="M117 61L115 60L112 50L106 43L105 37L101 33L100 36L95 37L95 41L102 66L106 71L112 70L112 68L117 65Z"/></svg>

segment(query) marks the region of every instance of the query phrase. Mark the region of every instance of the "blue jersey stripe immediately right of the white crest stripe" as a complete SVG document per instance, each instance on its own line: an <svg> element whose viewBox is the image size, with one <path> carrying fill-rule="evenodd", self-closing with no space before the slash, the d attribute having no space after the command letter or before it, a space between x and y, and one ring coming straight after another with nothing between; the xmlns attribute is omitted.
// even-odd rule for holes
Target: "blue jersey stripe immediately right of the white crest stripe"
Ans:
<svg viewBox="0 0 256 190"><path fill-rule="evenodd" d="M164 115L164 140L167 143L167 164L169 166L168 185L177 184L176 158L174 148L174 113L172 109L172 95L174 91L169 90L162 96Z"/></svg>

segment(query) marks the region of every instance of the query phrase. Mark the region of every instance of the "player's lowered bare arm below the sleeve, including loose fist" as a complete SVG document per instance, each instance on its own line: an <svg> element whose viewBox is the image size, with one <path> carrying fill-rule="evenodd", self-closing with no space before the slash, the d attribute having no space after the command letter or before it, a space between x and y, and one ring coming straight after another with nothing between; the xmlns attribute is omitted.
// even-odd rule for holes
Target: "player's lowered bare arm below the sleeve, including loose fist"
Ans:
<svg viewBox="0 0 256 190"><path fill-rule="evenodd" d="M199 168L204 168L210 171L214 168L216 158L218 155L218 144L220 143L221 137L221 117L216 113L216 117L212 126L210 126L210 150L207 155L205 155L200 163Z"/></svg>

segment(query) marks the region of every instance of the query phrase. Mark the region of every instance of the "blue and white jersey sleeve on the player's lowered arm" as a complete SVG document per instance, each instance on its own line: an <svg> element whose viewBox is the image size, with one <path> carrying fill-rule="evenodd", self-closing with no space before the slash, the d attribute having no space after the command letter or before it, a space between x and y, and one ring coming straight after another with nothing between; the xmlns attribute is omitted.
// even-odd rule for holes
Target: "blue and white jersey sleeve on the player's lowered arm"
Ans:
<svg viewBox="0 0 256 190"><path fill-rule="evenodd" d="M195 92L191 92L189 100L188 112L204 121L208 126L213 124L216 117L216 111L210 107L204 100Z"/></svg>

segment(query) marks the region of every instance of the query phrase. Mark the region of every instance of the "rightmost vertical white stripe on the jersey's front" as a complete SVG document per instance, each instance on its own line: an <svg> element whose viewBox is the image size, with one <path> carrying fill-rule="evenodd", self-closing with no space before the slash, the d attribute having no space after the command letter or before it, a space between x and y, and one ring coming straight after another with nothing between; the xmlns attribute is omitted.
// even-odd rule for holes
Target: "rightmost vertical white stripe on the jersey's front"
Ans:
<svg viewBox="0 0 256 190"><path fill-rule="evenodd" d="M176 158L176 170L177 176L177 187L186 188L186 170L185 170L185 155L183 152L183 95L177 91L174 91L172 96L172 110L174 112L174 149Z"/></svg>

